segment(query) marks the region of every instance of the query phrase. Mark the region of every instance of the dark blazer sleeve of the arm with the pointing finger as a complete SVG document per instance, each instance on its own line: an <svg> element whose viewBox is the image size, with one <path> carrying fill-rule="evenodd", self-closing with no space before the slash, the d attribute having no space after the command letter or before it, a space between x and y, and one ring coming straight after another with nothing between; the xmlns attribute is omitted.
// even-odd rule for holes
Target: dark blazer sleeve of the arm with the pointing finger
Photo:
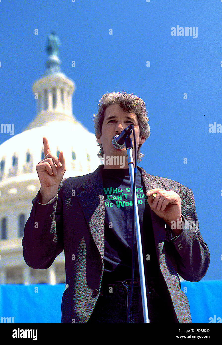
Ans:
<svg viewBox="0 0 222 345"><path fill-rule="evenodd" d="M40 191L24 227L23 257L29 267L46 269L64 249L62 201L58 193L47 204L39 200Z"/></svg>

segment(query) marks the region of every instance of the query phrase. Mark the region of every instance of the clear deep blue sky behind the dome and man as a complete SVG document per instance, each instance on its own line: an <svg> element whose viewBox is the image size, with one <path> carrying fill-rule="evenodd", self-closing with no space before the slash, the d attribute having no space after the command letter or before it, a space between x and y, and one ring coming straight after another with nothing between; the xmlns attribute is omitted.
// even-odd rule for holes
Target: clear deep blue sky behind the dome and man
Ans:
<svg viewBox="0 0 222 345"><path fill-rule="evenodd" d="M0 123L14 123L18 134L36 116L31 86L56 31L62 71L77 87L73 114L89 131L105 92L144 99L151 135L140 166L193 190L208 280L222 273L222 133L209 133L209 124L222 124L221 10L220 1L196 0L0 2ZM198 37L171 36L176 25L198 27ZM0 144L8 139L0 133Z"/></svg>

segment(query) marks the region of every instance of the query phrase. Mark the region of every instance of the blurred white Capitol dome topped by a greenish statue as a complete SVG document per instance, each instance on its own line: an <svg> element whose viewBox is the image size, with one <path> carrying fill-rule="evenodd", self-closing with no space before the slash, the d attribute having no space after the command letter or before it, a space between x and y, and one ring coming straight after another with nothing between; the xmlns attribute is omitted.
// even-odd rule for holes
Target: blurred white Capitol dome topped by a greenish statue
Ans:
<svg viewBox="0 0 222 345"><path fill-rule="evenodd" d="M55 266L50 267L46 274L34 274L23 259L21 239L24 224L29 217L32 200L40 189L36 165L44 158L43 136L48 139L53 155L59 157L60 151L64 153L67 170L63 178L89 174L102 164L98 158L100 147L95 134L72 114L75 84L61 72L59 47L59 38L52 32L47 42L46 71L32 87L37 100L36 118L22 133L14 136L12 126L3 125L12 137L0 145L1 284L55 284L65 279L64 252L54 264L61 264L60 268L57 267L60 274Z"/></svg>

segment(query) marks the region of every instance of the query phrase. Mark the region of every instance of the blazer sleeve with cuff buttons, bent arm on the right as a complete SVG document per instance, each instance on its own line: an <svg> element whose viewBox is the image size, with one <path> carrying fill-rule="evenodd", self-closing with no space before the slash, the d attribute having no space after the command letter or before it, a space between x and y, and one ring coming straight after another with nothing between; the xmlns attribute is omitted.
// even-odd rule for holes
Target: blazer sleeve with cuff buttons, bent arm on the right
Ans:
<svg viewBox="0 0 222 345"><path fill-rule="evenodd" d="M178 274L190 282L199 282L210 264L210 252L199 230L193 191L188 189L181 205L182 233L173 234L166 224L168 238L174 244Z"/></svg>

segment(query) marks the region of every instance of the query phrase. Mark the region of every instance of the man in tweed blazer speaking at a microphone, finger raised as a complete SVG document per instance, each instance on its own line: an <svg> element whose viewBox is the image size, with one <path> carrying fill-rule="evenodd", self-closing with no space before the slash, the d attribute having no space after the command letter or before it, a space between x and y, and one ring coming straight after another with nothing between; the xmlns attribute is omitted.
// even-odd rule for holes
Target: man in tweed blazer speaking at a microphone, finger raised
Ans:
<svg viewBox="0 0 222 345"><path fill-rule="evenodd" d="M112 139L132 124L140 162L144 156L140 148L150 135L149 119L144 101L127 92L106 93L98 109L94 127L104 165L92 173L63 179L63 152L54 156L43 137L45 157L36 166L41 188L24 228L23 256L30 267L46 269L64 249L61 322L143 323L136 245L131 280L134 241L128 155L125 148L115 148ZM139 166L135 179L149 322L192 322L178 274L198 282L210 263L193 192Z"/></svg>

